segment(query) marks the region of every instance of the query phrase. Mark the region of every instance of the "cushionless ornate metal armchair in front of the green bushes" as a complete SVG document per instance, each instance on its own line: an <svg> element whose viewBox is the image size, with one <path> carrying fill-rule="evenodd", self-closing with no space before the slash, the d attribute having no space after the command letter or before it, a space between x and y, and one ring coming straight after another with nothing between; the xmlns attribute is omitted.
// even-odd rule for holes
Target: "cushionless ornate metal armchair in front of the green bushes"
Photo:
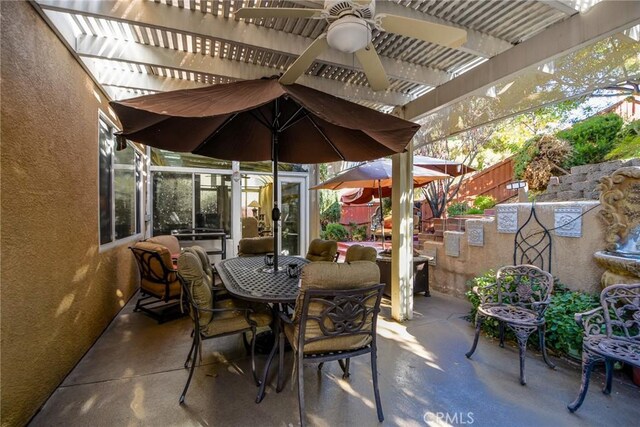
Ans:
<svg viewBox="0 0 640 427"><path fill-rule="evenodd" d="M504 327L509 327L516 335L520 349L520 384L527 383L524 362L529 335L536 330L545 363L552 369L545 346L544 312L553 292L553 276L533 265L513 265L502 267L496 274L497 281L483 287L474 287L473 292L480 297L476 313L476 333L473 346L466 354L470 358L478 345L480 328L484 318L496 319L500 326L500 347L504 347Z"/></svg>

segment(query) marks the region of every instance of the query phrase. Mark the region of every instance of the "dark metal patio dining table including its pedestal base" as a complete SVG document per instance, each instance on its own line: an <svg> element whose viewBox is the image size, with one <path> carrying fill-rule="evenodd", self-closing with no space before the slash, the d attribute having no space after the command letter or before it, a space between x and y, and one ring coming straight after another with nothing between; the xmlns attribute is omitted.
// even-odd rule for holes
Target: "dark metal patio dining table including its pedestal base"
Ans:
<svg viewBox="0 0 640 427"><path fill-rule="evenodd" d="M216 270L222 279L227 291L246 301L266 303L271 305L274 311L274 339L273 346L269 352L269 357L264 367L262 381L258 389L256 403L260 403L264 398L267 377L271 362L276 352L280 351L280 363L278 366L278 387L281 384L280 376L283 374L282 351L278 349L278 336L280 333L280 322L278 311L286 310L288 304L295 304L299 291L299 279L289 277L287 267L289 264L296 264L301 269L308 260L300 257L283 256L281 259L282 270L277 272L268 271L265 266L264 257L238 257L222 260L216 263ZM279 389L277 391L280 391Z"/></svg>

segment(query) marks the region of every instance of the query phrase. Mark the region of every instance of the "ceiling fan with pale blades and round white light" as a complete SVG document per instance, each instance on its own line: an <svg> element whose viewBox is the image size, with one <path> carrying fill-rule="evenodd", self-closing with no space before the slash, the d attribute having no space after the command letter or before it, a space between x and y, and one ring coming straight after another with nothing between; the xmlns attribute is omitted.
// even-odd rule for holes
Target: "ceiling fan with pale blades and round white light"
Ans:
<svg viewBox="0 0 640 427"><path fill-rule="evenodd" d="M371 42L374 29L450 48L460 47L467 41L467 32L460 28L397 15L376 15L375 3L371 0L326 0L324 9L253 7L238 9L235 16L245 19L324 19L329 22L327 31L320 34L280 77L283 84L294 83L318 56L331 47L340 52L355 53L371 89L386 89L389 79Z"/></svg>

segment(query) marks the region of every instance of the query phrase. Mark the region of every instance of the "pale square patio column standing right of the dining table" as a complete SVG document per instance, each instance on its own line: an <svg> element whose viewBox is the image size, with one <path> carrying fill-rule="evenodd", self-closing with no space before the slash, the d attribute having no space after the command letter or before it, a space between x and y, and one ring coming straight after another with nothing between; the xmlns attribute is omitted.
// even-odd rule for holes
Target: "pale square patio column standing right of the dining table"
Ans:
<svg viewBox="0 0 640 427"><path fill-rule="evenodd" d="M402 322L413 317L413 141L392 165L391 315Z"/></svg>

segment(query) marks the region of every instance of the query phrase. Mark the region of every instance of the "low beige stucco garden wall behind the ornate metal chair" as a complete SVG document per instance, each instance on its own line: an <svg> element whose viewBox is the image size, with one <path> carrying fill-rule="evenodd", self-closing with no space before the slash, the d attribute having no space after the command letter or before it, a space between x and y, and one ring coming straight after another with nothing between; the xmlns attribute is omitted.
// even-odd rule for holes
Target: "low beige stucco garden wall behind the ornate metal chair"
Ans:
<svg viewBox="0 0 640 427"><path fill-rule="evenodd" d="M529 217L531 204L509 206L518 207L518 227L522 226ZM599 292L603 270L593 259L593 254L604 247L604 225L598 214L601 210L599 202L536 203L536 214L546 228L552 229L554 210L563 206L581 206L582 212L595 208L582 217L582 237L561 237L551 231L551 273L571 289ZM527 226L527 230L533 232L538 229L529 229ZM469 246L467 234L464 233L460 238L458 257L446 255L444 243L425 242L425 250L437 252L436 265L429 269L432 288L464 297L468 280L489 269L513 264L514 237L515 234L498 233L497 221L488 219L484 222L484 246Z"/></svg>

